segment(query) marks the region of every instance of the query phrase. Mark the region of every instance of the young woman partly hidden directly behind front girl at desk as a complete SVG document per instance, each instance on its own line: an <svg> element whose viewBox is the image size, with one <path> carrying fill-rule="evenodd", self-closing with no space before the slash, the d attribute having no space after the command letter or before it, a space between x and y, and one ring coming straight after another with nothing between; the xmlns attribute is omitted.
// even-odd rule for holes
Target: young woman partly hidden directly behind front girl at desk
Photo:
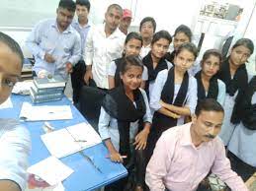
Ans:
<svg viewBox="0 0 256 191"><path fill-rule="evenodd" d="M137 32L129 32L125 41L124 52L121 58L118 58L111 62L111 65L108 69L108 80L109 80L109 88L114 89L121 84L120 78L120 69L121 64L124 62L125 57L129 55L138 56L142 47L142 37ZM140 88L145 88L145 82L148 79L147 76L147 68L144 66L142 73L142 82Z"/></svg>

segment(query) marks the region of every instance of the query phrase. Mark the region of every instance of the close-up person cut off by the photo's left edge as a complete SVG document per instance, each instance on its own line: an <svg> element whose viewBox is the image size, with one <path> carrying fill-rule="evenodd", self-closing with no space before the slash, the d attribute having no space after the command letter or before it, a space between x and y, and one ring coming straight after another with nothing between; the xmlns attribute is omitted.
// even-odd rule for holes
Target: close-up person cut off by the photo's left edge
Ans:
<svg viewBox="0 0 256 191"><path fill-rule="evenodd" d="M23 59L19 44L0 32L0 104L19 80ZM25 189L30 150L29 131L15 119L0 118L0 191Z"/></svg>

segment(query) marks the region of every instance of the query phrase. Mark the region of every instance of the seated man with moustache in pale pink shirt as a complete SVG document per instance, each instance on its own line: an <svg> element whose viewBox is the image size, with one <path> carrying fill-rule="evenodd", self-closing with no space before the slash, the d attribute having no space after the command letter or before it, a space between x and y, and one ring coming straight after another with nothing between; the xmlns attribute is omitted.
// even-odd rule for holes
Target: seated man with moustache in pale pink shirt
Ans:
<svg viewBox="0 0 256 191"><path fill-rule="evenodd" d="M145 181L153 191L194 191L210 170L233 191L247 191L242 179L230 168L225 149L217 137L224 111L214 99L202 100L192 123L165 131L158 140Z"/></svg>

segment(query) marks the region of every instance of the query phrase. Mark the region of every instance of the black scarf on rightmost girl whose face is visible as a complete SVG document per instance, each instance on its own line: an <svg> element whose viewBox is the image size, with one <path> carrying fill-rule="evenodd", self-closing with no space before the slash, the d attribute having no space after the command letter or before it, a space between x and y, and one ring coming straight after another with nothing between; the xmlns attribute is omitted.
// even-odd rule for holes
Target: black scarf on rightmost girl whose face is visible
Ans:
<svg viewBox="0 0 256 191"><path fill-rule="evenodd" d="M226 93L229 96L234 96L238 90L238 94L243 94L243 89L247 86L248 75L245 64L239 66L236 70L233 79L231 79L229 68L229 57L222 63L221 69L217 74L217 78L224 82Z"/></svg>

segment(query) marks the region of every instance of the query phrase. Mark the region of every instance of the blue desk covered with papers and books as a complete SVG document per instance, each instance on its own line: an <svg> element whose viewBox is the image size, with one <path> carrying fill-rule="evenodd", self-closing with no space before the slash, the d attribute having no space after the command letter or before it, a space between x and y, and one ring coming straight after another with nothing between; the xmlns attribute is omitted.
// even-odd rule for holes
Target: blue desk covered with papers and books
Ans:
<svg viewBox="0 0 256 191"><path fill-rule="evenodd" d="M18 119L21 107L24 101L31 102L30 96L11 96L14 107L0 109L1 118L16 118ZM67 126L75 125L80 122L86 121L86 119L80 114L80 112L71 104L71 102L63 97L59 101L41 103L37 105L70 105L73 119L71 120L56 120L49 121L49 123L55 129L61 129ZM40 113L39 113L40 114ZM43 145L41 135L43 132L43 121L39 122L23 122L31 133L32 137L32 154L30 157L30 164L35 164L50 156L47 149ZM56 140L57 141L57 140ZM105 157L108 154L106 147L103 144L96 145L83 151L84 154L94 160L96 165L102 170L103 173L97 171L86 159L80 154L74 154L60 159L66 165L74 170L66 180L63 181L63 185L67 191L82 191L93 190L104 185L110 184L128 174L127 169L120 163L112 162Z"/></svg>

